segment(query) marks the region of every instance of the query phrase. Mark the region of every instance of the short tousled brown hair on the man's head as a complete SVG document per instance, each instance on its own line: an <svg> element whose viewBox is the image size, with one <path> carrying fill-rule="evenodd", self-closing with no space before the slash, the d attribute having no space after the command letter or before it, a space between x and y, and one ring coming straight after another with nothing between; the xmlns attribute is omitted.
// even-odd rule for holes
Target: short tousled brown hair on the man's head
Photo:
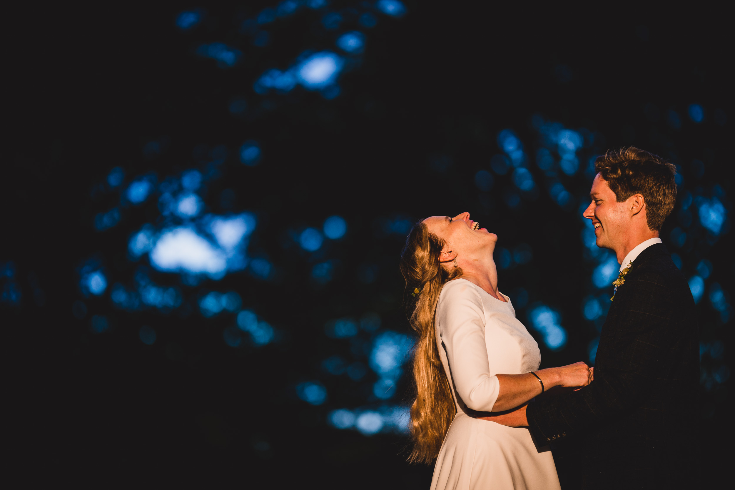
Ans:
<svg viewBox="0 0 735 490"><path fill-rule="evenodd" d="M676 202L676 167L634 146L608 151L595 160L595 172L615 193L617 202L634 194L645 199L648 228L660 231Z"/></svg>

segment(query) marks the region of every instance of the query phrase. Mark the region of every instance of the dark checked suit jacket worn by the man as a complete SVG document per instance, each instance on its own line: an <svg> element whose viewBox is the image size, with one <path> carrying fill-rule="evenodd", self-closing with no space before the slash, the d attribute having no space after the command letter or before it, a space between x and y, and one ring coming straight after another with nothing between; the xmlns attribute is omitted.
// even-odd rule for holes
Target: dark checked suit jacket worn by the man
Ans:
<svg viewBox="0 0 735 490"><path fill-rule="evenodd" d="M617 288L595 381L530 403L531 433L567 447L583 489L698 488L698 339L684 275L651 245Z"/></svg>

